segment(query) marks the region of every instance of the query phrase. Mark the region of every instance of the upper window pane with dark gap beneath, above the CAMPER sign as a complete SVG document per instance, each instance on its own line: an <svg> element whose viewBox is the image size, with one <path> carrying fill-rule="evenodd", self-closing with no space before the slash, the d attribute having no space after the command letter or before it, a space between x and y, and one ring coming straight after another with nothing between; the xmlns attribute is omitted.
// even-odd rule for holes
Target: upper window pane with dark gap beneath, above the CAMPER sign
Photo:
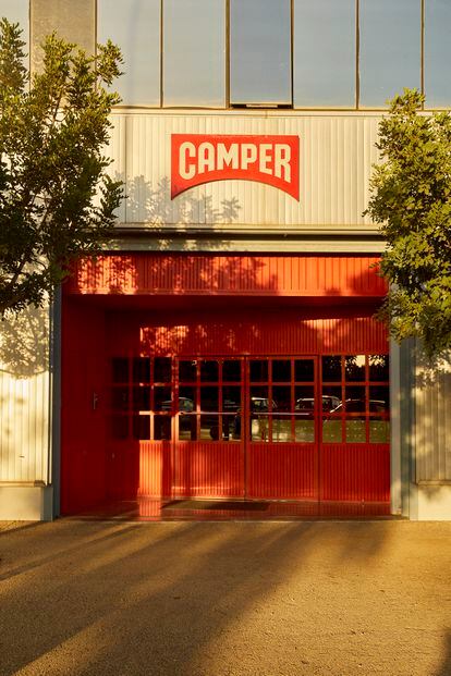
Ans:
<svg viewBox="0 0 451 676"><path fill-rule="evenodd" d="M291 0L231 0L230 100L291 103Z"/></svg>

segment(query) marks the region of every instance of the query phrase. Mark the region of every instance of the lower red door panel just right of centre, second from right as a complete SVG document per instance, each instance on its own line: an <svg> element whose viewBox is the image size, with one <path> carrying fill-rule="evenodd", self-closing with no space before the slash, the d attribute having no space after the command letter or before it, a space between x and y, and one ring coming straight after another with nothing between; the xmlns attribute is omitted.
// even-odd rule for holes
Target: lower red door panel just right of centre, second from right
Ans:
<svg viewBox="0 0 451 676"><path fill-rule="evenodd" d="M315 500L318 495L315 444L259 444L247 450L247 497Z"/></svg>

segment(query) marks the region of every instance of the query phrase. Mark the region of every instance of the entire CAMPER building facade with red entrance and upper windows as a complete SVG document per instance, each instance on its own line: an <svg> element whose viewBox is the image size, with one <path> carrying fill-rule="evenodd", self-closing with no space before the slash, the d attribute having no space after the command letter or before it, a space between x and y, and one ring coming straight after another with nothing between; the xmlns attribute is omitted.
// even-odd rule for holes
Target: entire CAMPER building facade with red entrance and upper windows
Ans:
<svg viewBox="0 0 451 676"><path fill-rule="evenodd" d="M451 377L375 312L364 216L403 87L451 106L441 0L0 0L123 49L117 236L4 325L0 518L248 499L451 518Z"/></svg>

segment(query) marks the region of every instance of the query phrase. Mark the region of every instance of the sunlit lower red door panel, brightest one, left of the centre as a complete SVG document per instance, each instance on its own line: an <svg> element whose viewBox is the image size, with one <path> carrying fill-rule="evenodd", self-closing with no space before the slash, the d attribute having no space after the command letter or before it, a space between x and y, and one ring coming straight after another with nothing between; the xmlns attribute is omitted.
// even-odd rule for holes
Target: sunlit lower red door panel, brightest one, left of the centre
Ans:
<svg viewBox="0 0 451 676"><path fill-rule="evenodd" d="M242 497L244 452L241 443L175 444L174 494L179 497Z"/></svg>

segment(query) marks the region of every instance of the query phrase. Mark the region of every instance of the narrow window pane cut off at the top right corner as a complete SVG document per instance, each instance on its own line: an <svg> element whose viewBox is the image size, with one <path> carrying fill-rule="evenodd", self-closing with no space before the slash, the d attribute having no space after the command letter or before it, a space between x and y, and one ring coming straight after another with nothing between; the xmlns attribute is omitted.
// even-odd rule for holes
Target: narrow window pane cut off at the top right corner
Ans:
<svg viewBox="0 0 451 676"><path fill-rule="evenodd" d="M451 106L451 3L425 3L425 94L427 108Z"/></svg>

